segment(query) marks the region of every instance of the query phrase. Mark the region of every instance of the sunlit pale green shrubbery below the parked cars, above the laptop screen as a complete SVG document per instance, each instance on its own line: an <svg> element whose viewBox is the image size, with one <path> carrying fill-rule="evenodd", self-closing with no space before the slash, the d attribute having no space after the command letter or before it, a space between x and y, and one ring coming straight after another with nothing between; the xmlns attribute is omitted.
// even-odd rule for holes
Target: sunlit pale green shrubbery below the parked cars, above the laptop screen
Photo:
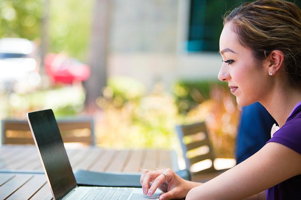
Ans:
<svg viewBox="0 0 301 200"><path fill-rule="evenodd" d="M69 116L83 110L85 91L82 87L57 87L30 93L7 94L6 101L5 117L24 118L27 112L49 108L57 117Z"/></svg>

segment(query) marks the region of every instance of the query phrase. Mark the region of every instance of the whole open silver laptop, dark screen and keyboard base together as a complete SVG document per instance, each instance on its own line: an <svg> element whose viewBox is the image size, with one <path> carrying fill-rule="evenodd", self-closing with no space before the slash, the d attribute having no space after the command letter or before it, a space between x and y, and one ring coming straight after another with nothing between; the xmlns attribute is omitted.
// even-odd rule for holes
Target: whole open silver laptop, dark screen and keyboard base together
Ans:
<svg viewBox="0 0 301 200"><path fill-rule="evenodd" d="M159 189L149 197L141 188L78 186L53 111L27 113L27 120L54 200L159 200Z"/></svg>

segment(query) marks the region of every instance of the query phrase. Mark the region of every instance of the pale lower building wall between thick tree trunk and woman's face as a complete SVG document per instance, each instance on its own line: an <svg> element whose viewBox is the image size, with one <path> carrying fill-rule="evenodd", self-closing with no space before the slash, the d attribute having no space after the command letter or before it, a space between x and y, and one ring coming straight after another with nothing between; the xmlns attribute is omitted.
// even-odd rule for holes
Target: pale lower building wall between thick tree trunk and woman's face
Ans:
<svg viewBox="0 0 301 200"><path fill-rule="evenodd" d="M111 54L109 76L129 76L139 80L151 90L154 83L162 81L166 89L179 79L217 80L221 56L214 53L201 54Z"/></svg>

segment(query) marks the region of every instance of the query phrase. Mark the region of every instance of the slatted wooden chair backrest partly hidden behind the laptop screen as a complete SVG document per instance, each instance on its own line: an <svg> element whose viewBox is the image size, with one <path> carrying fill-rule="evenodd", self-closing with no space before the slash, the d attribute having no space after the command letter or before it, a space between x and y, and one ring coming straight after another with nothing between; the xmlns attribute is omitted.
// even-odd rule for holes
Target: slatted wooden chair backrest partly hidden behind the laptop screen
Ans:
<svg viewBox="0 0 301 200"><path fill-rule="evenodd" d="M64 142L95 145L93 118L56 120ZM35 144L27 120L2 120L2 144Z"/></svg>

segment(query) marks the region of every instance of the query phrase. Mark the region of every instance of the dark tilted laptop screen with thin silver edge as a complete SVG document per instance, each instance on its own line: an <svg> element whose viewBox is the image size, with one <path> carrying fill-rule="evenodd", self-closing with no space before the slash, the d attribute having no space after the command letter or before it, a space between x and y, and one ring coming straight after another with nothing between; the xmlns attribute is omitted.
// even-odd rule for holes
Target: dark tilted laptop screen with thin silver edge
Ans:
<svg viewBox="0 0 301 200"><path fill-rule="evenodd" d="M76 187L64 143L51 109L27 113L27 119L55 199Z"/></svg>

